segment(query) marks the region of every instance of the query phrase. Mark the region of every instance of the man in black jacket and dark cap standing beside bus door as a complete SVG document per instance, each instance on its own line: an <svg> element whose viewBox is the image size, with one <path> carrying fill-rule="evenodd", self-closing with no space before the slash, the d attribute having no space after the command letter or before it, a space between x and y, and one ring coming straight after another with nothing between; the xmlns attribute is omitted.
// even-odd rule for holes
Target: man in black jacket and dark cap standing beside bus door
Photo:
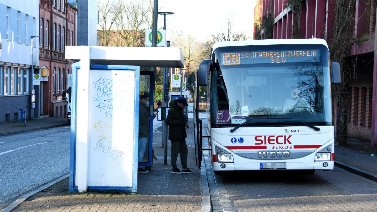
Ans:
<svg viewBox="0 0 377 212"><path fill-rule="evenodd" d="M183 97L172 100L169 103L170 109L167 112L165 123L169 126L169 140L172 141L172 152L170 162L172 163L172 173L174 174L191 174L192 171L187 168L187 145L186 145L186 123L183 114L184 107L189 106ZM181 155L182 171L177 167L178 153Z"/></svg>

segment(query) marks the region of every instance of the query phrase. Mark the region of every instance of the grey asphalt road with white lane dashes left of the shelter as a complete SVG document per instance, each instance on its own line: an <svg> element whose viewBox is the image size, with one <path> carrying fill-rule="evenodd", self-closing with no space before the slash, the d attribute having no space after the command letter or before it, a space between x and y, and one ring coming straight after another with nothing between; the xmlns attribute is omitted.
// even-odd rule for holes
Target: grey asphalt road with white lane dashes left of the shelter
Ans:
<svg viewBox="0 0 377 212"><path fill-rule="evenodd" d="M69 172L70 127L0 137L0 204Z"/></svg>

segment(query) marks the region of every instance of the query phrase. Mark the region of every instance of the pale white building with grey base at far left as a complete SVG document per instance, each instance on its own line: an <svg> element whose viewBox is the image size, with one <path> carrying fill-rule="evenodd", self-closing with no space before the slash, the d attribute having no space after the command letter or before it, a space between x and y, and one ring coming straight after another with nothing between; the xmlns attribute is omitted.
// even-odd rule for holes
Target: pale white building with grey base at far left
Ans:
<svg viewBox="0 0 377 212"><path fill-rule="evenodd" d="M30 118L33 59L39 69L39 1L0 0L0 122Z"/></svg>

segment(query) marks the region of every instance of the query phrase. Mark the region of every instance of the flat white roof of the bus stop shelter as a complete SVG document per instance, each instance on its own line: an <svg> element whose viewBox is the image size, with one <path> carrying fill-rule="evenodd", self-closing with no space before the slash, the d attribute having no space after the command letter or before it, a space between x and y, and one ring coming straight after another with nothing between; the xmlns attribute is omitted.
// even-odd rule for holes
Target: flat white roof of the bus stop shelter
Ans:
<svg viewBox="0 0 377 212"><path fill-rule="evenodd" d="M184 57L179 48L66 46L66 59L81 60L88 48L90 64L184 68Z"/></svg>

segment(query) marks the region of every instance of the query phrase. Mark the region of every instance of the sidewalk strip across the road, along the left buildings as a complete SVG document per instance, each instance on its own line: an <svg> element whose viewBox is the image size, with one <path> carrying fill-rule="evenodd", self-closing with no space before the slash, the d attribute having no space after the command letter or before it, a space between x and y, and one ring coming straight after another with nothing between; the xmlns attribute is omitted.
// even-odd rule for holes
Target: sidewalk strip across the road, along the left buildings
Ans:
<svg viewBox="0 0 377 212"><path fill-rule="evenodd" d="M35 120L26 120L26 126L25 121L2 122L0 123L0 136L60 127L64 125L68 125L67 118L45 117Z"/></svg>

